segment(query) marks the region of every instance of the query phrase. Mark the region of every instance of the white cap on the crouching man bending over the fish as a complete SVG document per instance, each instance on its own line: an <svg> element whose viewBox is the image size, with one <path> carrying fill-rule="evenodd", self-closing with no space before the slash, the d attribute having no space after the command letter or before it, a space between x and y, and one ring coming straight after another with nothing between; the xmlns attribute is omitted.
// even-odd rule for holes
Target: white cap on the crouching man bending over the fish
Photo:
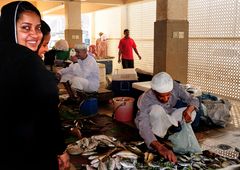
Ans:
<svg viewBox="0 0 240 170"><path fill-rule="evenodd" d="M153 76L151 88L158 93L167 93L173 89L173 79L166 72L160 72Z"/></svg>

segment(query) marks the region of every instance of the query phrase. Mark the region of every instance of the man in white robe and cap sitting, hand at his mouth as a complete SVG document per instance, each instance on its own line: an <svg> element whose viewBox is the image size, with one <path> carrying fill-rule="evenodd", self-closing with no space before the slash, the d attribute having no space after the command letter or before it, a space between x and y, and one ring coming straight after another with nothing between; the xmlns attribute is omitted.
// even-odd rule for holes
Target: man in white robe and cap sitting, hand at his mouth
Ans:
<svg viewBox="0 0 240 170"><path fill-rule="evenodd" d="M100 83L99 68L96 60L87 53L85 45L76 45L75 52L76 55L71 57L73 63L69 67L58 71L57 75L60 76L60 82L69 82L74 90L98 91Z"/></svg>

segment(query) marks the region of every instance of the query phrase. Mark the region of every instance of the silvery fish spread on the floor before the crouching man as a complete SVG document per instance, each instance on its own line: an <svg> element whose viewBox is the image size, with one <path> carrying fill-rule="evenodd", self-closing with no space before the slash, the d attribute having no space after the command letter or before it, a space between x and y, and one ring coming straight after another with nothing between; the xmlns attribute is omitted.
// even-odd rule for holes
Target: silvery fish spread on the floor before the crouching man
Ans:
<svg viewBox="0 0 240 170"><path fill-rule="evenodd" d="M82 138L68 145L68 152L88 159L83 165L87 170L198 170L220 169L240 164L239 159L229 159L203 151L202 154L177 155L178 163L173 164L149 150L142 151L143 142L121 143L114 137L96 135ZM99 152L98 148L107 148Z"/></svg>

